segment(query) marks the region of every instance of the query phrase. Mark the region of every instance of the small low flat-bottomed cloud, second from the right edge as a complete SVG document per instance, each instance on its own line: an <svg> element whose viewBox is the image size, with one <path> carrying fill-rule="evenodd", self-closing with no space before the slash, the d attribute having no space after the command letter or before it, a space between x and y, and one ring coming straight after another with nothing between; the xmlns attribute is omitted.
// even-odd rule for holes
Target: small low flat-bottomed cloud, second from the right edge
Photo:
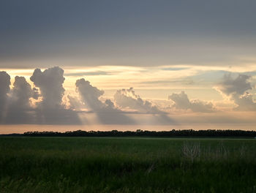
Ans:
<svg viewBox="0 0 256 193"><path fill-rule="evenodd" d="M211 102L203 102L200 100L189 100L187 94L184 91L181 91L180 94L173 93L168 96L168 99L171 99L175 102L172 107L181 110L192 110L193 112L201 113L211 113L214 111L214 106Z"/></svg>

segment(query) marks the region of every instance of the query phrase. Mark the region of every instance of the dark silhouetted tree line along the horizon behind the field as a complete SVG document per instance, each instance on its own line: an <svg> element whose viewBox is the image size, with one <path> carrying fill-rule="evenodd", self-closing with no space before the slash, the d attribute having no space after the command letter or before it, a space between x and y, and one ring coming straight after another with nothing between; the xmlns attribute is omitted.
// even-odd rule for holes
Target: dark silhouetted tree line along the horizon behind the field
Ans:
<svg viewBox="0 0 256 193"><path fill-rule="evenodd" d="M170 131L73 131L73 132L25 132L29 137L256 137L256 131L244 130L170 130Z"/></svg>

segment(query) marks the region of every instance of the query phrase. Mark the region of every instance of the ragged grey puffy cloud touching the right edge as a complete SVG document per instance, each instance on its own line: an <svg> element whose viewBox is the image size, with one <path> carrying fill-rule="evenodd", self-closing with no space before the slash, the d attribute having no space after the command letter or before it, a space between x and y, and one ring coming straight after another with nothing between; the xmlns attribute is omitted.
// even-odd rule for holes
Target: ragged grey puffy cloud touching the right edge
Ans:
<svg viewBox="0 0 256 193"><path fill-rule="evenodd" d="M253 87L250 78L249 75L238 75L236 78L231 74L225 75L215 88L237 105L235 110L256 110L256 102L248 92Z"/></svg>

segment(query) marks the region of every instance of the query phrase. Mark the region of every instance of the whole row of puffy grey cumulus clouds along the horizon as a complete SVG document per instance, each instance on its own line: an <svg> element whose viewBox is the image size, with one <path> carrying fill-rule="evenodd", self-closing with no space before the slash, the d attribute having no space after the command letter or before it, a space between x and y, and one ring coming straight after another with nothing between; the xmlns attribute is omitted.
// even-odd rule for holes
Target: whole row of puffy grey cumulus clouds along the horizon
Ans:
<svg viewBox="0 0 256 193"><path fill-rule="evenodd" d="M215 88L235 104L233 110L255 111L249 79L249 75L225 75ZM213 102L189 99L184 91L170 94L170 105L164 108L142 99L132 87L117 90L113 99L104 99L104 91L84 78L75 83L77 96L67 95L60 67L35 69L30 80L34 86L16 76L10 87L10 75L0 72L0 124L174 124L168 108L172 113L218 111ZM91 121L92 114L96 121ZM138 118L141 114L150 116L151 121L148 116L147 121Z"/></svg>

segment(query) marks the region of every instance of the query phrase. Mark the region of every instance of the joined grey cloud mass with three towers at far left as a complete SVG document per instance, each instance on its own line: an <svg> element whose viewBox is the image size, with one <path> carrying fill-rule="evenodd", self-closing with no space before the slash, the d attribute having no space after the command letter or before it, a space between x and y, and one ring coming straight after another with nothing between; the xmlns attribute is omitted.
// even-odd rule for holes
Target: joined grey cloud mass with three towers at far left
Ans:
<svg viewBox="0 0 256 193"><path fill-rule="evenodd" d="M78 113L61 104L63 72L59 67L35 69L31 80L39 89L19 76L10 89L10 75L0 72L0 124L80 124ZM35 105L31 99L37 100Z"/></svg>

